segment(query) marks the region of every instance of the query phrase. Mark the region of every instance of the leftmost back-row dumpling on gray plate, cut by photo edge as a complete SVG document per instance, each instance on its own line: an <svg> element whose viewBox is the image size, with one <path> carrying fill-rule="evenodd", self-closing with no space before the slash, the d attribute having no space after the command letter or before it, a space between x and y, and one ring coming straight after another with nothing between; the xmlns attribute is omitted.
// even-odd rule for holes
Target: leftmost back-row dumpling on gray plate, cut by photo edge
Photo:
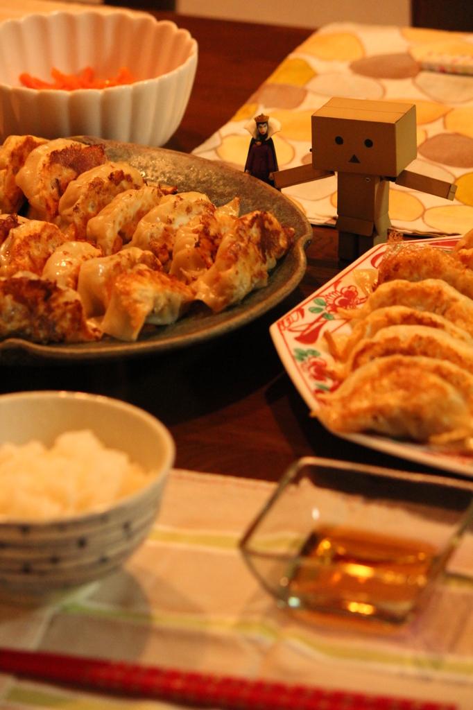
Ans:
<svg viewBox="0 0 473 710"><path fill-rule="evenodd" d="M0 212L18 212L25 202L15 178L31 151L43 143L48 141L36 136L9 136L5 139L0 149Z"/></svg>

